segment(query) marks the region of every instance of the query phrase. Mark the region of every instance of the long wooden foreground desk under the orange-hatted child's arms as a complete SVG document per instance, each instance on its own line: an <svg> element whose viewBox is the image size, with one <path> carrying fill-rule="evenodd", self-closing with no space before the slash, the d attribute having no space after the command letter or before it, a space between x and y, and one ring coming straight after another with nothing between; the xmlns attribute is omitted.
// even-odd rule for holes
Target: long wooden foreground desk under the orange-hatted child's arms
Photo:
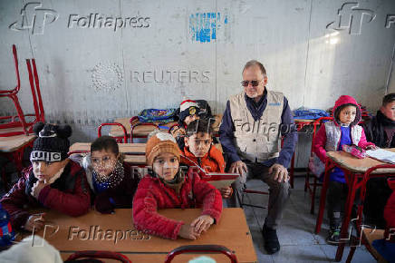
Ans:
<svg viewBox="0 0 395 263"><path fill-rule="evenodd" d="M188 223L196 219L200 212L201 209L159 210L161 215ZM102 215L92 210L78 218L48 211L45 219L47 225L53 227L47 227L45 235L43 230L37 234L62 253L112 250L130 258L138 256L137 258L145 260L142 262L147 262L153 258L164 259L170 250L180 246L217 244L235 251L239 262L257 261L243 209L224 209L218 224L208 229L198 240L161 239L137 231L132 225L131 209L116 209L113 215ZM57 227L59 229L55 231Z"/></svg>

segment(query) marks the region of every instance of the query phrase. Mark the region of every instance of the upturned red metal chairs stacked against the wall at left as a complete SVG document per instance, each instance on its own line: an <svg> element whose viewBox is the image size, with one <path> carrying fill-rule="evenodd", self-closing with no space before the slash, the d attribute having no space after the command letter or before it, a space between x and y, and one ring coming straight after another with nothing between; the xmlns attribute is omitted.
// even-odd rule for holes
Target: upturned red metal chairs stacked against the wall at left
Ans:
<svg viewBox="0 0 395 263"><path fill-rule="evenodd" d="M13 44L13 54L14 54L15 74L16 74L16 86L14 87L13 90L0 91L0 97L8 97L11 100L13 100L14 106L16 108L16 112L18 115L0 117L0 120L11 119L11 122L1 123L0 129L21 127L23 131L21 131L21 132L3 132L3 133L0 133L0 137L9 137L9 136L21 135L21 134L29 135L29 132L33 131L33 125L35 122L45 122L44 112L43 112L43 101L42 101L41 93L40 93L40 83L38 80L38 74L37 74L37 69L36 69L36 65L35 65L35 60L34 59L31 60L32 64L33 64L33 73L32 73L32 65L30 63L30 60L26 59L26 66L27 66L27 71L29 73L30 87L32 90L32 96L33 96L33 102L34 102L34 114L24 114L24 112L21 108L21 105L19 103L18 96L17 96L17 93L19 93L19 90L21 88L21 80L20 80L20 75L19 75L18 56L16 53L16 47L14 44ZM34 74L34 76L33 76L33 74ZM35 85L34 85L34 83L35 83ZM25 117L28 117L28 116L34 116L35 117L34 121L33 122L26 122ZM19 121L16 121L16 118L18 118Z"/></svg>

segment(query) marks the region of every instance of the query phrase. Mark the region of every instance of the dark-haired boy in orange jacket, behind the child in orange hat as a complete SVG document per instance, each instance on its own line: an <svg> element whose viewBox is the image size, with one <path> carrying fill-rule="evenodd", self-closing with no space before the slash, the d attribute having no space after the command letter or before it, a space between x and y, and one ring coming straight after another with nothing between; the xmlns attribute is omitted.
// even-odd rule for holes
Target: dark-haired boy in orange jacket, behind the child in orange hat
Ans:
<svg viewBox="0 0 395 263"><path fill-rule="evenodd" d="M225 172L225 161L222 152L212 144L213 129L205 119L190 122L184 137L185 147L181 150L184 158L182 164L198 165L207 172ZM232 194L230 186L220 189L223 198Z"/></svg>

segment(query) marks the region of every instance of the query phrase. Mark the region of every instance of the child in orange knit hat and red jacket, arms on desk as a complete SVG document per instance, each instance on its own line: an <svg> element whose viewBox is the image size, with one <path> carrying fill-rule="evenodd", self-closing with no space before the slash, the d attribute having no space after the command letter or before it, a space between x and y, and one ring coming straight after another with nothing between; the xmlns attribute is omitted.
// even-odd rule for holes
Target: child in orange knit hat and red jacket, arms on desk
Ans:
<svg viewBox="0 0 395 263"><path fill-rule="evenodd" d="M133 200L136 229L165 239L198 239L202 232L217 222L222 212L219 191L198 174L179 169L176 140L165 132L153 133L146 146L147 164L152 166L142 180ZM202 214L190 225L165 218L158 209L202 208Z"/></svg>

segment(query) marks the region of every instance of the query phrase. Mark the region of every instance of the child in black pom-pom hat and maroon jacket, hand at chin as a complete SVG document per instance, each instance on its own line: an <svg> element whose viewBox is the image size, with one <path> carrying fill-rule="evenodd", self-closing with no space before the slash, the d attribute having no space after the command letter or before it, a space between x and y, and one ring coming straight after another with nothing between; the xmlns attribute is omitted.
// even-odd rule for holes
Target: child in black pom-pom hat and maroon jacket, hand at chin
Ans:
<svg viewBox="0 0 395 263"><path fill-rule="evenodd" d="M44 214L32 215L25 206L43 206L76 217L90 209L91 197L85 172L67 157L72 135L69 125L57 126L37 122L30 155L32 166L24 170L20 180L2 200L14 229L42 229Z"/></svg>

